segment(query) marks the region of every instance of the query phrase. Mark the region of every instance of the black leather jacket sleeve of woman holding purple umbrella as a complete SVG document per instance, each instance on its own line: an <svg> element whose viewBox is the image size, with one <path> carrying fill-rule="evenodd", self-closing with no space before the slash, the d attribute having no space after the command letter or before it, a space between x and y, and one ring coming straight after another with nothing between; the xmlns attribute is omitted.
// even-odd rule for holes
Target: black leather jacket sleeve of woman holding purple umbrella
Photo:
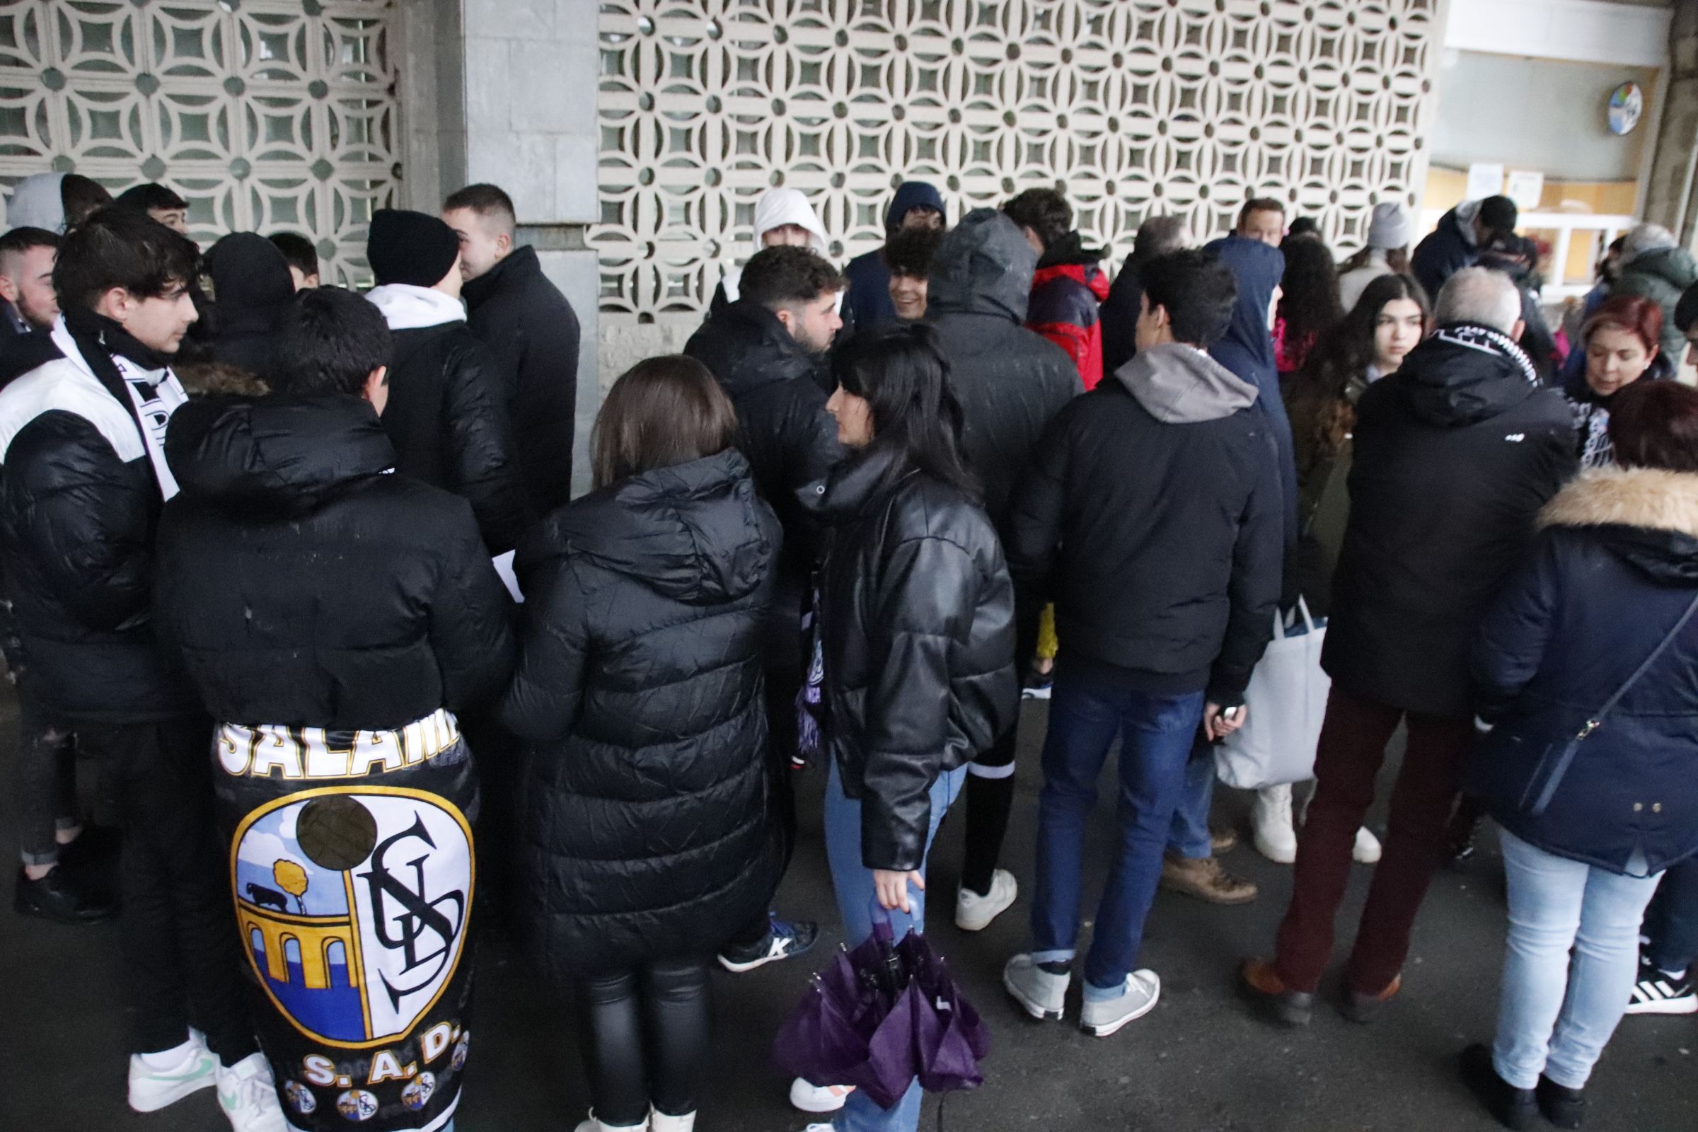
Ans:
<svg viewBox="0 0 1698 1132"><path fill-rule="evenodd" d="M971 635L980 586L971 555L942 538L897 545L881 574L868 609L861 859L868 869L919 869L949 742L951 658Z"/></svg>

